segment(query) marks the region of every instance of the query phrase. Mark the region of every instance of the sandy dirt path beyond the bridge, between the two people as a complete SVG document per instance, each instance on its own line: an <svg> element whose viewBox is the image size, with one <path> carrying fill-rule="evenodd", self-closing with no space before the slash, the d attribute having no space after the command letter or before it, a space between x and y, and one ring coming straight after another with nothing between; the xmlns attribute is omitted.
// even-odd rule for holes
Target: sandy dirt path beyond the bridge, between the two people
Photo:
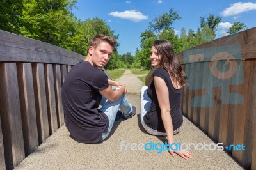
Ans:
<svg viewBox="0 0 256 170"><path fill-rule="evenodd" d="M136 75L132 74L131 70L126 70L124 75L116 81L127 87L128 94L140 93L141 87L143 86L143 82Z"/></svg>

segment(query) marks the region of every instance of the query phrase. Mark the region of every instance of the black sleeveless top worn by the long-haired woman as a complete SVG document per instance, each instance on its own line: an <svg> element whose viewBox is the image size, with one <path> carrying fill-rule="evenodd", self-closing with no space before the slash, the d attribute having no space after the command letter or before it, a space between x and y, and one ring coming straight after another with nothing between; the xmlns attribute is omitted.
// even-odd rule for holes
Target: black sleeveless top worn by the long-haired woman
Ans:
<svg viewBox="0 0 256 170"><path fill-rule="evenodd" d="M161 79L164 79L166 86L169 91L169 101L171 108L171 117L173 124L173 131L179 128L183 123L183 116L181 111L181 98L182 98L182 89L175 89L172 84L169 73L165 69L157 69L153 73L153 77L157 76ZM152 100L150 110L145 114L144 121L146 125L158 132L165 132L162 117L161 109L157 100L156 89L154 81L150 84L147 90L148 97Z"/></svg>

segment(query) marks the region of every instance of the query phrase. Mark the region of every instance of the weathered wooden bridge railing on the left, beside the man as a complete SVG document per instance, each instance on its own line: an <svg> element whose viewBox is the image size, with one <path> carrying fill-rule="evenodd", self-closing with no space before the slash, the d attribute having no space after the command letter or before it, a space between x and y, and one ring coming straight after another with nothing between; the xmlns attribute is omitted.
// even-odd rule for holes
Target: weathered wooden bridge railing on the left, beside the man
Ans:
<svg viewBox="0 0 256 170"><path fill-rule="evenodd" d="M13 169L63 125L61 86L82 59L0 30L0 169Z"/></svg>

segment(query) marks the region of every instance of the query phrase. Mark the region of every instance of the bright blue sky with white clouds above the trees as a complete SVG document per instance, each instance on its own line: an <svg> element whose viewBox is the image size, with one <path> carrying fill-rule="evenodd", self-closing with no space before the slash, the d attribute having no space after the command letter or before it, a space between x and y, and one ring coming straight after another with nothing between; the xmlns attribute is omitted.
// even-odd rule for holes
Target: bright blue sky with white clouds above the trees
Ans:
<svg viewBox="0 0 256 170"><path fill-rule="evenodd" d="M182 27L187 33L189 29L196 31L200 17L207 18L209 14L222 18L216 38L227 35L225 32L233 22L243 22L248 29L256 27L256 0L77 0L76 6L72 12L78 19L99 17L119 35L118 53L121 55L127 52L134 55L136 48L140 49L140 35L148 29L148 23L170 8L182 17L172 25L177 35Z"/></svg>

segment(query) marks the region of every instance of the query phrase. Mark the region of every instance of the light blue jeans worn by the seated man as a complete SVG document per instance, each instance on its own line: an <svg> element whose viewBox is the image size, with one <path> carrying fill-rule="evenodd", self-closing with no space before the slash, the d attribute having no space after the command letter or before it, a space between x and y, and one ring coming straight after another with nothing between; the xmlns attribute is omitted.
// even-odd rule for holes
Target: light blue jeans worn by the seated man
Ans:
<svg viewBox="0 0 256 170"><path fill-rule="evenodd" d="M118 90L118 88L113 89L113 91L115 90ZM124 116L129 116L129 114L132 112L132 105L130 104L129 100L125 97L124 94L115 102L110 102L105 97L102 97L100 105L102 105L102 107L99 110L104 112L108 116L109 123L108 132L102 134L103 141L104 139L106 139L106 137L108 137L109 133L111 132L113 124L115 123L115 118L118 109L122 111Z"/></svg>

